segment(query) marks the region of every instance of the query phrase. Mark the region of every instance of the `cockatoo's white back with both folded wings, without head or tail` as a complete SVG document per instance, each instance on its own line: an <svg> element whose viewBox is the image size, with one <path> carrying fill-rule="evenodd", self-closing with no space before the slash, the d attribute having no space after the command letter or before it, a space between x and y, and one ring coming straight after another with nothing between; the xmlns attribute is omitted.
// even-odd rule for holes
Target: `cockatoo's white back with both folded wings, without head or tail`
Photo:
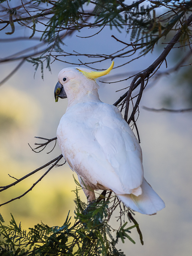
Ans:
<svg viewBox="0 0 192 256"><path fill-rule="evenodd" d="M132 193L143 180L142 151L114 106L76 104L57 129L61 151L79 175L115 193Z"/></svg>

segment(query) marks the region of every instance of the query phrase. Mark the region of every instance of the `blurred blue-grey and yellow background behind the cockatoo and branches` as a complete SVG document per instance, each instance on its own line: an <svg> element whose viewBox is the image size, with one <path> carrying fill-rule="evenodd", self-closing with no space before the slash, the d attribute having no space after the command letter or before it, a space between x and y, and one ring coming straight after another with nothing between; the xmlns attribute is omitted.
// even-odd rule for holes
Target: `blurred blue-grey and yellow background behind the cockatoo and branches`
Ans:
<svg viewBox="0 0 192 256"><path fill-rule="evenodd" d="M6 31L8 30L7 28ZM5 30L0 33L1 39L7 38ZM94 34L95 30L91 33ZM76 37L79 34L86 37L90 35L90 30L84 29L81 33L76 32L67 37L64 40L67 52L115 52L120 43L111 38L112 34L123 41L129 41L125 33L120 34L109 28L91 38ZM23 29L18 30L15 36L30 35L29 30ZM0 58L3 59L35 44L37 42L34 40L1 41ZM148 53L147 56L122 67L121 74L120 69L113 69L108 78L103 77L103 80L119 80L126 78L131 72L147 68L157 59L163 47L164 45L159 45L153 53ZM167 58L168 68L178 63L182 54L186 54L187 51L188 49L173 49ZM76 57L71 57L70 61L73 60L78 61ZM17 64L16 61L1 63L0 80L10 74ZM105 61L100 64L101 66L97 64L94 67L106 69L110 64L110 61ZM116 60L115 66L119 64L120 60ZM67 108L67 99L59 99L56 103L53 92L59 71L69 66L71 65L55 61L51 65L51 72L44 70L42 80L40 69L34 78L33 64L25 63L0 86L0 186L12 183L14 179L10 176L20 178L61 154L58 145L52 153L46 154L52 149L54 142L38 154L31 150L28 143L34 147L35 142L41 142L34 136L56 136L60 118ZM161 71L165 69L163 63ZM192 113L156 113L142 108L190 107L191 73L191 66L182 67L176 73L150 83L143 93L137 125L143 151L144 173L147 181L165 201L166 208L154 216L136 213L135 218L143 233L144 245L140 244L139 235L133 230L132 238L136 245L128 240L125 244L120 242L118 245L126 255L188 256L192 253ZM117 90L130 84L129 81L104 84L99 82L99 79L97 82L100 86L101 100L109 104L113 104L125 92L116 92ZM24 193L47 169L37 172L8 191L1 192L0 203ZM26 196L0 208L5 222L10 221L11 212L17 223L21 221L23 229L41 221L49 226L62 225L69 210L73 217L75 194L72 190L76 187L73 174L76 177L67 164L54 167ZM80 196L86 202L83 192L80 192ZM113 221L116 225L115 218Z"/></svg>

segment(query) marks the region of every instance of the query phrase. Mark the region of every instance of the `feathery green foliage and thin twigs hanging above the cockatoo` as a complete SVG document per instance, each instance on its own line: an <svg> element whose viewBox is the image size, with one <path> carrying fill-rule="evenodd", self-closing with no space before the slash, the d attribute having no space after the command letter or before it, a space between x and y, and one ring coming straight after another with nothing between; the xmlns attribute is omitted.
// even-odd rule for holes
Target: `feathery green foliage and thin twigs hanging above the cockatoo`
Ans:
<svg viewBox="0 0 192 256"><path fill-rule="evenodd" d="M20 26L26 26L31 30L29 39L33 38L34 35L40 35L40 40L45 43L44 52L39 52L40 56L34 58L34 54L31 54L31 57L29 55L25 57L27 61L34 64L35 72L39 66L41 67L42 78L44 61L47 61L46 67L49 70L49 63L55 60L76 64L66 60L65 56L80 56L83 60L78 59L77 65L84 64L88 67L98 61L115 60L121 57L124 62L120 65L121 67L152 51L159 39L165 39L171 32L174 34L179 30L182 32L181 46L191 43L191 29L188 27L189 24L186 25L185 23L191 14L191 1L138 0L128 5L124 0L32 0L30 2L33 3L30 6L30 14L27 11L29 9L27 3L24 3L24 6L14 6L14 1L10 1L13 7L10 7L8 2L5 4L4 0L0 0L0 3L4 3L4 6L0 8L1 11L7 13L4 15L7 20L7 25L4 28L11 26L11 32L7 32L7 34L15 33L14 24L17 22ZM27 9L24 8L25 5ZM4 20L1 22L4 24ZM123 49L118 49L116 53L105 55L66 53L63 49L63 39L65 36L71 35L73 31L80 31L84 28L101 28L93 34L94 36L106 26L109 26L110 29L116 28L119 32L130 33L130 36L127 37L132 43L128 44L129 50L122 47ZM123 44L127 44L126 41ZM132 45L136 48L131 49ZM139 53L137 53L138 50ZM57 52L61 54L57 54ZM133 54L137 55L136 58L127 59ZM84 60L83 57L85 56L89 58L89 61Z"/></svg>

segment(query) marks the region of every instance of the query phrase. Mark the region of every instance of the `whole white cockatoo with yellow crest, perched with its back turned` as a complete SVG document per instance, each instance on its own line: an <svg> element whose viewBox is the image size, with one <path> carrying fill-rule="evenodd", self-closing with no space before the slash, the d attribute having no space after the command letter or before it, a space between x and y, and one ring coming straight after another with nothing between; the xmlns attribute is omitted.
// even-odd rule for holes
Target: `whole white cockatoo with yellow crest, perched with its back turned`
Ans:
<svg viewBox="0 0 192 256"><path fill-rule="evenodd" d="M156 214L165 203L143 176L138 140L119 109L99 99L95 79L113 65L101 72L75 67L59 72L55 99L68 98L57 128L59 147L89 202L95 200L94 190L104 189L134 211Z"/></svg>

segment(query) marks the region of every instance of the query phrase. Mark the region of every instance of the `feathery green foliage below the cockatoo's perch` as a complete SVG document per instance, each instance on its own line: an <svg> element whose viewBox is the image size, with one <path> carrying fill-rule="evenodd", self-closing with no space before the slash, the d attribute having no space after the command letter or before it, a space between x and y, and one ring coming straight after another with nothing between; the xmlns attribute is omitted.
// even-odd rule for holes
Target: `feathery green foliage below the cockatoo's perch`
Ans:
<svg viewBox="0 0 192 256"><path fill-rule="evenodd" d="M131 229L138 227L138 224L127 227L128 222L122 220L125 214L131 214L130 210L126 208L123 211L116 197L112 198L111 203L99 197L97 202L87 206L80 200L78 190L75 193L74 224L68 213L61 227L41 223L27 232L16 224L12 215L10 225L3 225L4 220L0 215L0 256L123 256L124 253L116 248L119 238L122 242L128 238L135 244L129 234ZM109 225L109 220L117 206L121 209L121 216L118 217L120 226L115 230ZM115 238L112 231L116 234Z"/></svg>

